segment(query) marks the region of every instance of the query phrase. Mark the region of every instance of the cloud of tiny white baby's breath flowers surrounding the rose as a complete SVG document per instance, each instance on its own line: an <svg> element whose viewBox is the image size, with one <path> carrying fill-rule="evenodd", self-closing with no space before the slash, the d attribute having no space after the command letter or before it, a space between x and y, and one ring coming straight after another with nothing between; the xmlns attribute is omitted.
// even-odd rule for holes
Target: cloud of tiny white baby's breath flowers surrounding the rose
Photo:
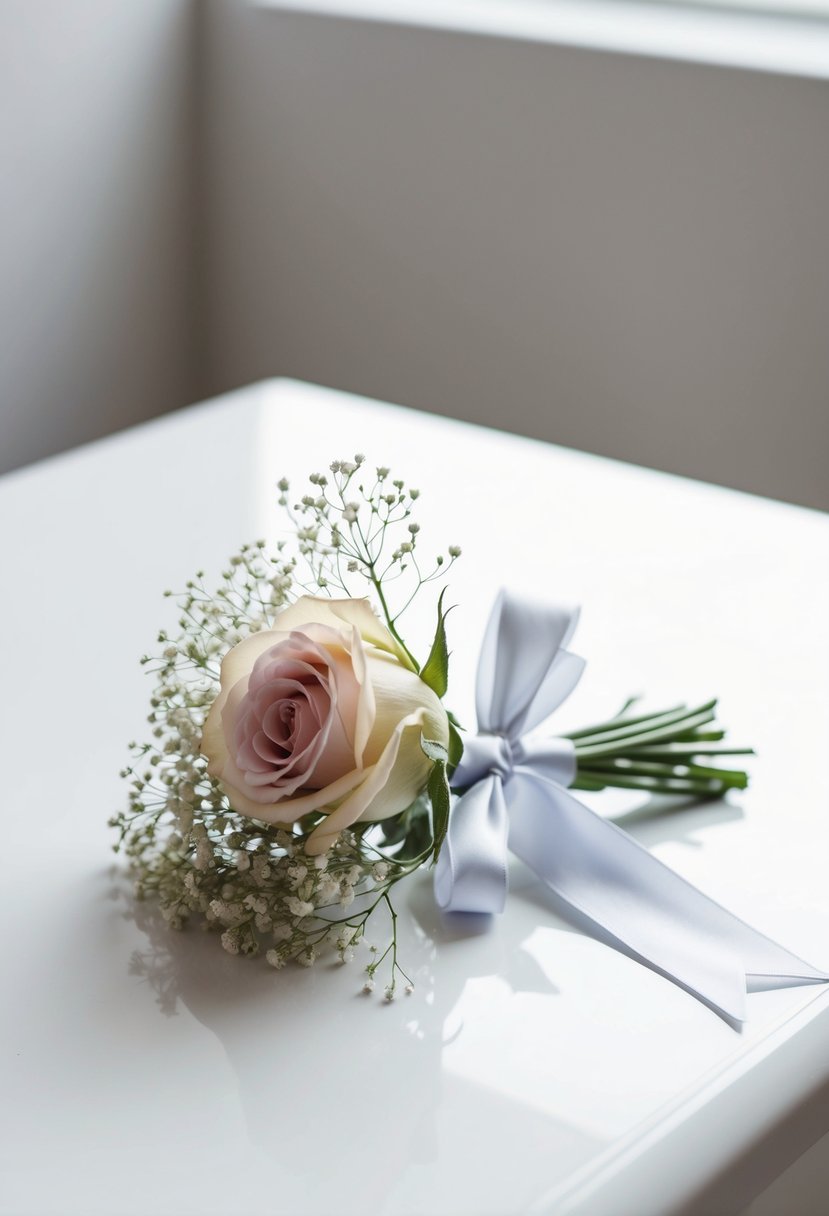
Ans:
<svg viewBox="0 0 829 1216"><path fill-rule="evenodd" d="M136 897L157 900L170 928L199 921L220 935L229 953L264 953L277 970L289 962L310 967L326 952L351 961L370 918L385 907L390 941L382 952L372 948L365 989L374 987L385 966L384 993L391 1000L399 980L412 989L397 958L391 891L433 856L427 799L379 827L354 824L311 856L305 844L322 816L288 828L238 814L208 773L199 747L224 655L271 627L300 592L368 592L419 670L397 623L421 587L446 573L461 551L451 546L424 567L412 518L418 491L383 467L367 479L363 466L361 455L334 461L331 478L312 474L314 492L293 507L282 479L280 503L293 525L293 545L283 541L272 553L263 540L243 545L213 590L198 572L182 592L164 592L176 601L177 629L162 630L157 653L141 659L154 677L151 741L130 744L132 758L122 772L128 805L109 822L118 833L115 852L129 860ZM394 608L389 584L397 585Z"/></svg>

